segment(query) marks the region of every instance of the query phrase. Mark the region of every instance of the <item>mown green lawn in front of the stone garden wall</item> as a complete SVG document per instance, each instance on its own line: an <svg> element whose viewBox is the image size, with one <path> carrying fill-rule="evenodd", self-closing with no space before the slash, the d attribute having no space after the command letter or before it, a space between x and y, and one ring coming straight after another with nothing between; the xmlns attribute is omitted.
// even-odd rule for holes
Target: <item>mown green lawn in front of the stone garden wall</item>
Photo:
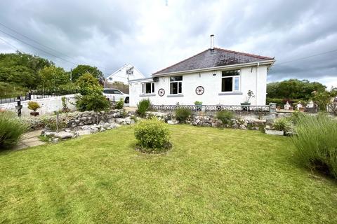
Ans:
<svg viewBox="0 0 337 224"><path fill-rule="evenodd" d="M337 223L336 181L287 137L170 126L165 155L132 127L0 153L0 223Z"/></svg>

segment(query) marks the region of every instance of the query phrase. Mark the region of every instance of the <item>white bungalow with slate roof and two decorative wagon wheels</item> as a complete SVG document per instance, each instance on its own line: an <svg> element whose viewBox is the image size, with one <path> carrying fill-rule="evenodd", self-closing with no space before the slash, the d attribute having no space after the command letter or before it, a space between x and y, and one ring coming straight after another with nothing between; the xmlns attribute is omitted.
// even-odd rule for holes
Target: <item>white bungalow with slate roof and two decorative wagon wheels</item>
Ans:
<svg viewBox="0 0 337 224"><path fill-rule="evenodd" d="M154 105L240 105L251 90L252 106L264 106L272 57L213 47L152 73L129 80L130 106L149 98Z"/></svg>

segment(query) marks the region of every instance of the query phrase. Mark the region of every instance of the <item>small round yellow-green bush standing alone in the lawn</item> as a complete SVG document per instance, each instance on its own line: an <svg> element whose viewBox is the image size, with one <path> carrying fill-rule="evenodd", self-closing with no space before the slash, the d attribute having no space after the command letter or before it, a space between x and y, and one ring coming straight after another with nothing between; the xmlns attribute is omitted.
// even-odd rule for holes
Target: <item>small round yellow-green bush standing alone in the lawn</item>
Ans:
<svg viewBox="0 0 337 224"><path fill-rule="evenodd" d="M169 125L157 118L142 120L135 127L137 148L143 153L161 153L171 148Z"/></svg>

